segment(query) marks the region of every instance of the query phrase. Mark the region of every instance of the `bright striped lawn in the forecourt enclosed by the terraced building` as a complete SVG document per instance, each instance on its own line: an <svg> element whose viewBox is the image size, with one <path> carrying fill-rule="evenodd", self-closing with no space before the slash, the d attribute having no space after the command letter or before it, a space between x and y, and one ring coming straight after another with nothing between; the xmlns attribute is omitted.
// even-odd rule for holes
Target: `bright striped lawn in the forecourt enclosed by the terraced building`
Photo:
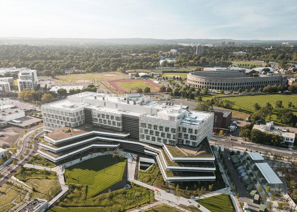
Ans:
<svg viewBox="0 0 297 212"><path fill-rule="evenodd" d="M112 155L102 155L67 167L65 176L67 183L88 185L86 197L92 197L102 190L122 181L127 159L118 164ZM105 166L105 174L104 174ZM77 181L78 178L78 181Z"/></svg>

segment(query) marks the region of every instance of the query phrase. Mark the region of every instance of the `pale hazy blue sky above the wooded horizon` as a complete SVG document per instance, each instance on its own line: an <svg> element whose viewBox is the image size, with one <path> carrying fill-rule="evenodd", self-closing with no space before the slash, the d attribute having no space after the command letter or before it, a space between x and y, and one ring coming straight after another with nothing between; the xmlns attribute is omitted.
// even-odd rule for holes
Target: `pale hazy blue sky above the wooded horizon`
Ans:
<svg viewBox="0 0 297 212"><path fill-rule="evenodd" d="M0 0L0 37L297 40L296 0Z"/></svg>

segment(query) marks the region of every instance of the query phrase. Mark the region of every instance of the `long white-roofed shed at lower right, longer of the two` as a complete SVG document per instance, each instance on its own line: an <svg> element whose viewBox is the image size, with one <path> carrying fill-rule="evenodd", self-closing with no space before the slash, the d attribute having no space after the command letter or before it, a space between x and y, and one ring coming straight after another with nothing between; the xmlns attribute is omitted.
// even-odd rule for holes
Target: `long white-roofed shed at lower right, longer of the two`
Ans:
<svg viewBox="0 0 297 212"><path fill-rule="evenodd" d="M258 169L261 171L261 174L267 181L267 184L270 185L271 190L283 188L283 183L281 179L275 174L272 168L268 163L255 163Z"/></svg>

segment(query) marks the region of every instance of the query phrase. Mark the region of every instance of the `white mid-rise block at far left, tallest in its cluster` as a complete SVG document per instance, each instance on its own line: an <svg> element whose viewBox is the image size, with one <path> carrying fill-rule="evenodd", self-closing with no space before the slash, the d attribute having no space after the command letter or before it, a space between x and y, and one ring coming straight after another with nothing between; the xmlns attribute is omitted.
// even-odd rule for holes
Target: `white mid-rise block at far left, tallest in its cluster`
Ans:
<svg viewBox="0 0 297 212"><path fill-rule="evenodd" d="M37 86L37 73L36 70L27 69L18 73L18 91L21 92L25 88L35 90Z"/></svg>

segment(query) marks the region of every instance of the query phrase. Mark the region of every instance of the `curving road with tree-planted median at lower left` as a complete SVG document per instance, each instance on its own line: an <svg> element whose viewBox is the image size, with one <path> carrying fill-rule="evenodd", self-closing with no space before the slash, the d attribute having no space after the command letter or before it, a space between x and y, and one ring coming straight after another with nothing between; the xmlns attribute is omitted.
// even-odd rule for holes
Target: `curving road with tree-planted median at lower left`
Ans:
<svg viewBox="0 0 297 212"><path fill-rule="evenodd" d="M32 130L32 129L31 129ZM33 147L33 151L32 153L21 163L21 164L18 164L18 165L12 165L12 161L6 165L5 167L3 167L0 171L0 174L2 174L3 176L5 174L7 174L10 170L13 170L10 174L8 174L1 182L0 182L0 186L2 186L3 184L5 184L11 177L12 175L18 171L19 167L23 166L24 164L26 164L30 158L36 154L37 150L38 150L38 138L40 137L41 134L43 134L44 131L38 131L38 133L35 135L35 138L34 138L34 147ZM29 150L30 151L30 137L31 137L31 134L29 134L28 136L26 136L24 139L23 139L23 148L22 148L22 151L20 154L18 154L18 156L15 158L17 161L20 161L20 155L23 154L25 156L25 151L26 150Z"/></svg>

